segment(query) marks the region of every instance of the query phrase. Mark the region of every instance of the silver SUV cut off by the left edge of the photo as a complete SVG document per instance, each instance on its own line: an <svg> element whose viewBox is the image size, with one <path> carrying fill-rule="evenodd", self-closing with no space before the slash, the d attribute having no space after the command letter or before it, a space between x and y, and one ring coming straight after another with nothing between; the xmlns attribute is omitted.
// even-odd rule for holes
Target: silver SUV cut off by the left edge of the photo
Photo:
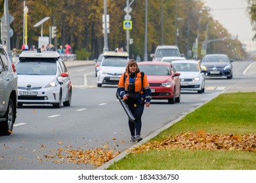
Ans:
<svg viewBox="0 0 256 183"><path fill-rule="evenodd" d="M14 64L0 44L0 135L10 135L16 120L17 80Z"/></svg>

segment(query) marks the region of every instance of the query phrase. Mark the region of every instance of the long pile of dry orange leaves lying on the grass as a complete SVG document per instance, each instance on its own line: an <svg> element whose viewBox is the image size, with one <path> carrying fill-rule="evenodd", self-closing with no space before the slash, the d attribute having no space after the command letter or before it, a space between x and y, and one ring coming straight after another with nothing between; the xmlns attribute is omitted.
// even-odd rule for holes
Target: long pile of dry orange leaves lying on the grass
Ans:
<svg viewBox="0 0 256 183"><path fill-rule="evenodd" d="M256 134L248 135L216 135L198 131L186 132L176 137L168 137L161 142L151 141L131 150L132 153L148 150L166 150L186 148L194 150L244 150L256 152Z"/></svg>

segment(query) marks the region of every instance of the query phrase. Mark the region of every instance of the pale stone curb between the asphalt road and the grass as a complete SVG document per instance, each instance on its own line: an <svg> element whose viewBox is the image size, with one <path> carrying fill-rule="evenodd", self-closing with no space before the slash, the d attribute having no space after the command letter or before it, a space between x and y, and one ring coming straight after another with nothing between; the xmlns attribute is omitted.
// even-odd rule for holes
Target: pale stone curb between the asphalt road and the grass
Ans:
<svg viewBox="0 0 256 183"><path fill-rule="evenodd" d="M216 97L218 97L219 95L221 95L222 93L225 93L230 87L226 88L225 90L223 90L223 92L220 92L219 94L213 96L211 99L209 99L209 101L212 101L213 99L215 99ZM145 142L148 142L150 139L156 137L158 134L160 134L163 130L171 127L172 125L176 124L177 122L181 121L186 115L190 114L191 112L194 112L194 110L202 107L203 105L205 105L206 103L209 103L209 101L205 101L204 103L202 103L201 105L198 105L198 107L193 108L192 110L186 112L185 114L183 114L182 116L180 116L179 118L177 118L176 120L173 121L167 121L169 122L167 125L164 125L163 127L161 127L160 129L158 129L157 131L154 131L154 133L148 135L147 137L145 137L144 139L142 139L142 141L137 142L137 144L134 144L133 146L131 146L130 148L128 148L127 150L125 150L124 152L121 152L121 154L119 154L118 156L116 156L116 158L111 159L110 161L106 162L104 165L98 167L96 170L106 170L108 169L108 167L110 167L110 165L113 165L114 162L119 161L120 159L125 158L125 156L127 156L128 154L130 154L131 150L133 148L136 148L137 146L140 146L142 144L144 144Z"/></svg>

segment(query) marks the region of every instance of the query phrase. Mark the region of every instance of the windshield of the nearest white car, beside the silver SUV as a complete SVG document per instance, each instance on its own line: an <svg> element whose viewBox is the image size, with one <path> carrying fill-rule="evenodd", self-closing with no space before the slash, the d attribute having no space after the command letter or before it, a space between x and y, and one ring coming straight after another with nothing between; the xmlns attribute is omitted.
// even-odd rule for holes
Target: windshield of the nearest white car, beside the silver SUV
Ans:
<svg viewBox="0 0 256 183"><path fill-rule="evenodd" d="M15 69L18 75L56 75L56 61L21 61Z"/></svg>

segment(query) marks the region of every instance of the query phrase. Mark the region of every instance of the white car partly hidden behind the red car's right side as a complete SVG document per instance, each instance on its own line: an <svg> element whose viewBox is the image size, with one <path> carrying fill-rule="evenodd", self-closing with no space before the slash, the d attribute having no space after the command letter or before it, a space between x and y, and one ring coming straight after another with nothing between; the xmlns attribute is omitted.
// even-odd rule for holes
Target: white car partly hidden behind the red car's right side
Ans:
<svg viewBox="0 0 256 183"><path fill-rule="evenodd" d="M195 60L172 61L173 67L181 79L181 90L198 91L204 93L205 71L201 70L200 63Z"/></svg>

